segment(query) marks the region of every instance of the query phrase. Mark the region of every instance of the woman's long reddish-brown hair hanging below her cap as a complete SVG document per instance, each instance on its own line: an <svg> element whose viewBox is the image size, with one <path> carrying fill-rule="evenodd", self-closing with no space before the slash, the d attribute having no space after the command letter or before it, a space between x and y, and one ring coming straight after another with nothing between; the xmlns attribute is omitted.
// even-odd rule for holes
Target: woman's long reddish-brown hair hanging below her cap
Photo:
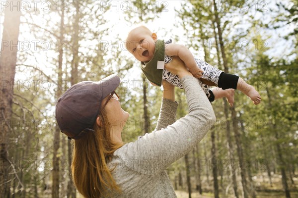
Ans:
<svg viewBox="0 0 298 198"><path fill-rule="evenodd" d="M106 190L120 191L112 174L108 162L113 153L123 144L111 142L111 128L101 109L99 116L101 126L94 123L94 132L74 141L72 175L78 192L85 198L100 198Z"/></svg>

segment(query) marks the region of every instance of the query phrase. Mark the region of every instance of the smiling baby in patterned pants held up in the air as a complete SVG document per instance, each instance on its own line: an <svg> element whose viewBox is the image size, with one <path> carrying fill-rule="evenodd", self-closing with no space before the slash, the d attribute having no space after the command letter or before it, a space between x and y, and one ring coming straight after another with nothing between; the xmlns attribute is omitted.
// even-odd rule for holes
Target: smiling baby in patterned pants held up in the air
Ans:
<svg viewBox="0 0 298 198"><path fill-rule="evenodd" d="M207 62L194 58L189 49L183 45L172 44L171 40L167 42L157 40L157 35L145 26L137 27L128 34L126 48L142 62L142 71L155 85L161 86L162 80L166 80L176 87L183 88L181 79L164 68L164 64L172 60L172 56L178 56L194 77L201 78L201 86L210 101L226 97L232 106L234 89L238 89L254 104L261 102L261 96L255 88L239 76L224 73ZM214 88L211 91L209 85L222 89Z"/></svg>

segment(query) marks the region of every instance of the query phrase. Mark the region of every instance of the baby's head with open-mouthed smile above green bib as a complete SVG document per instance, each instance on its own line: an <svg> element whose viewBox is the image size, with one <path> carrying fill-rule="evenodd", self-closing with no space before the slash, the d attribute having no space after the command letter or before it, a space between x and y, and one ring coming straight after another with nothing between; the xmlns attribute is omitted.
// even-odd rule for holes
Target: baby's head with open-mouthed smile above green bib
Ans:
<svg viewBox="0 0 298 198"><path fill-rule="evenodd" d="M156 40L157 35L155 33L152 33L145 26L139 26L128 34L126 49L128 49L137 60L146 62L153 57Z"/></svg>

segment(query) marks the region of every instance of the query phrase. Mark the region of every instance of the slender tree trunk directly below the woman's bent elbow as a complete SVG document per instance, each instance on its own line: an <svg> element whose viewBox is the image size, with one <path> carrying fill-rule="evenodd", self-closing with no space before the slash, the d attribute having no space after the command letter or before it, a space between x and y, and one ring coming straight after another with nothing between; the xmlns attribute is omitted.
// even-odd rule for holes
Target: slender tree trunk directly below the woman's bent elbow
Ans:
<svg viewBox="0 0 298 198"><path fill-rule="evenodd" d="M212 172L213 172L213 186L214 186L214 198L219 198L219 183L217 179L217 159L216 159L216 147L215 147L215 131L211 129L211 142L212 142Z"/></svg>

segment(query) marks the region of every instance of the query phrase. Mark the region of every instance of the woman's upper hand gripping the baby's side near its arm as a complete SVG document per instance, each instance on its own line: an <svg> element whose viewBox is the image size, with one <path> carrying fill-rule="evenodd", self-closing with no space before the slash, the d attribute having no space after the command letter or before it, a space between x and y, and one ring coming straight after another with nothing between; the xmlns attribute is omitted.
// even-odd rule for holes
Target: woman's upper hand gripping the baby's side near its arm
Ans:
<svg viewBox="0 0 298 198"><path fill-rule="evenodd" d="M180 78L183 78L184 76L193 76L178 56L173 56L173 60L165 64L164 67L171 73L178 75Z"/></svg>

